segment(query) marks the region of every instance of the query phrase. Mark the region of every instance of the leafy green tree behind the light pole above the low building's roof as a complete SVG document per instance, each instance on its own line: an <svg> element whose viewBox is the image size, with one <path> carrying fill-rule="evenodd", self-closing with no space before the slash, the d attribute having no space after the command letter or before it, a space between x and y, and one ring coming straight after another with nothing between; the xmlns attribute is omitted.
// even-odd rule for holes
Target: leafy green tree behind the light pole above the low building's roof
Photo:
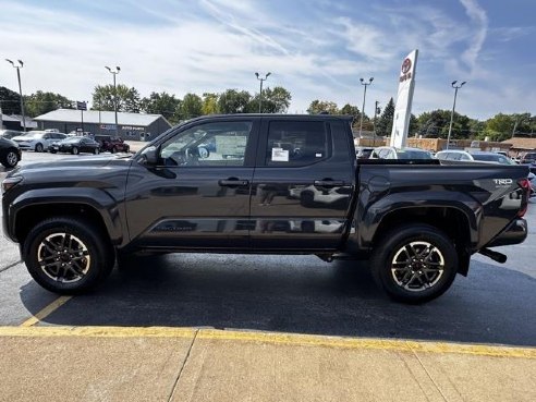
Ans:
<svg viewBox="0 0 536 402"><path fill-rule="evenodd" d="M114 94L118 101L118 111L139 112L139 93L136 88L129 88L124 84L119 84L117 90L113 85L97 85L93 92L93 109L113 111Z"/></svg>

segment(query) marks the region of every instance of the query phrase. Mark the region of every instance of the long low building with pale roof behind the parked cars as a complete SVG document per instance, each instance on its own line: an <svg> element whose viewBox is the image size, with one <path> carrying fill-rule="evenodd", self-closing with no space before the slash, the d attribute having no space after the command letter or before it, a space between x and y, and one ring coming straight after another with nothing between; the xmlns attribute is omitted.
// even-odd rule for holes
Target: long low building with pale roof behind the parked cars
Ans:
<svg viewBox="0 0 536 402"><path fill-rule="evenodd" d="M142 114L100 110L58 109L34 119L38 130L56 129L61 133L89 132L95 135L119 135L123 139L150 141L171 124L161 114Z"/></svg>

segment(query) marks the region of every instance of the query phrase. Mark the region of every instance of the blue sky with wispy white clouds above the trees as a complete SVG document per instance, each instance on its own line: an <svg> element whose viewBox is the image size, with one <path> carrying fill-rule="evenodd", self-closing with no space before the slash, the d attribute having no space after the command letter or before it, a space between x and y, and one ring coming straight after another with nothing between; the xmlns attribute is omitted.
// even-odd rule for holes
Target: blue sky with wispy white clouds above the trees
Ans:
<svg viewBox="0 0 536 402"><path fill-rule="evenodd" d="M0 86L19 90L3 59L24 62L23 94L90 100L112 83L142 96L167 92L292 95L289 112L315 100L362 108L395 100L404 57L418 49L413 113L451 109L451 82L466 81L456 111L486 120L536 114L534 0L0 0Z"/></svg>

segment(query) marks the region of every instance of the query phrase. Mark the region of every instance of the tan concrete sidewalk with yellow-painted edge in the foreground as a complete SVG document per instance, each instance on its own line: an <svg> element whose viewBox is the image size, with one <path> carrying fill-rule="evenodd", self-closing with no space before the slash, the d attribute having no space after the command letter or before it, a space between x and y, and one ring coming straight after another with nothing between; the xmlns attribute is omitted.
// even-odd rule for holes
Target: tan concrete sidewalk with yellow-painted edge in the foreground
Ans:
<svg viewBox="0 0 536 402"><path fill-rule="evenodd" d="M0 401L534 401L536 349L0 327Z"/></svg>

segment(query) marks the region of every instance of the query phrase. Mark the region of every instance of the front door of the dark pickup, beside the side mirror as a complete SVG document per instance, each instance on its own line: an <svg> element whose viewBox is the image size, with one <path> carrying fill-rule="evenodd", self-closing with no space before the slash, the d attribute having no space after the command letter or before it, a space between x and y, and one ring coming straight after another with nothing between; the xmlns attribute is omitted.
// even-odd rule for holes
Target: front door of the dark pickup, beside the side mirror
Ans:
<svg viewBox="0 0 536 402"><path fill-rule="evenodd" d="M248 249L257 125L253 118L193 123L156 144L157 166L134 162L126 214L135 244Z"/></svg>

